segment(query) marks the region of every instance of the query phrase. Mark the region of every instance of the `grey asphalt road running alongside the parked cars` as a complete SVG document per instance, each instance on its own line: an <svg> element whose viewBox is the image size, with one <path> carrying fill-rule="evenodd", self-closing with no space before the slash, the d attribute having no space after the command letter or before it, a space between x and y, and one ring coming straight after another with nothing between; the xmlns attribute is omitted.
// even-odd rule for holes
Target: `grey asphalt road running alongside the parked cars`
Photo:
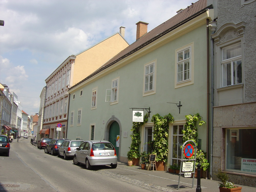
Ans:
<svg viewBox="0 0 256 192"><path fill-rule="evenodd" d="M0 154L0 191L148 191L109 177L100 166L93 170L74 165L30 145L30 139L11 143L9 157Z"/></svg>

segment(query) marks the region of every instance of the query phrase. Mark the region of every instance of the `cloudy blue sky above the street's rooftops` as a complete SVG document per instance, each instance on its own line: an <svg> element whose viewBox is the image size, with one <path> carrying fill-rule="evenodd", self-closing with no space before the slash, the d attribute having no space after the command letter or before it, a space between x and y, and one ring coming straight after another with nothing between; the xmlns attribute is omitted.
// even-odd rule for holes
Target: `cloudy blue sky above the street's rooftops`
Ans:
<svg viewBox="0 0 256 192"><path fill-rule="evenodd" d="M45 79L75 55L125 27L132 44L136 23L148 31L196 1L0 0L0 82L18 95L23 111L39 111Z"/></svg>

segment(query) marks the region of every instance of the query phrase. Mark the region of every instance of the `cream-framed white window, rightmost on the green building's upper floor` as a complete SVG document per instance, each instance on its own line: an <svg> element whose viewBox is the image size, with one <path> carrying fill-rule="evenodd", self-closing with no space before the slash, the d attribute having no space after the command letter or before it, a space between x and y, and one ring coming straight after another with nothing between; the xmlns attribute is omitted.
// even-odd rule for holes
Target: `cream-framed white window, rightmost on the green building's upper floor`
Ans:
<svg viewBox="0 0 256 192"><path fill-rule="evenodd" d="M189 49L189 57L184 59L185 56L185 52L186 50ZM179 54L182 53L182 60L179 60ZM188 70L184 70L184 65L186 62L189 62L189 71ZM182 64L183 68L182 68L182 80L178 81L178 73L180 73L178 71L178 65ZM189 77L184 79L184 73L185 71L187 71L189 73ZM179 49L175 50L175 88L179 88L179 87L183 87L183 86L187 86L190 84L194 84L194 42L185 45Z"/></svg>

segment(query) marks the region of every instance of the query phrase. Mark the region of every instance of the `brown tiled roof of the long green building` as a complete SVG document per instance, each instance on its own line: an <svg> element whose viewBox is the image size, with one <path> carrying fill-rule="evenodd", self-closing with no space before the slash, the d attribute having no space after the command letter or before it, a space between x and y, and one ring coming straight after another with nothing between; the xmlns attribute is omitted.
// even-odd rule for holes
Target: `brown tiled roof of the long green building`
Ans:
<svg viewBox="0 0 256 192"><path fill-rule="evenodd" d="M94 71L92 74L90 74L84 80L75 84L73 87L76 87L83 81L92 77L94 74L97 74L99 71L105 69L106 67L109 67L113 63L123 59L124 57L132 54L133 52L139 50L140 48L148 45L149 43L153 42L155 39L161 37L162 35L172 31L172 29L187 22L188 20L195 17L196 15L199 15L202 12L205 12L206 8L212 8L212 6L207 7L207 0L199 0L194 4L191 4L189 7L184 9L182 12L178 13L177 15L170 18L166 22L164 22L161 25L157 26L156 28L152 29L147 34L142 36L140 39L135 41L133 44L131 44L130 46L128 46L127 48L125 48L124 50L119 52L116 56L114 56L112 59L110 59L108 62L106 62L103 66L101 66L99 69ZM70 89L72 89L73 87L71 87Z"/></svg>

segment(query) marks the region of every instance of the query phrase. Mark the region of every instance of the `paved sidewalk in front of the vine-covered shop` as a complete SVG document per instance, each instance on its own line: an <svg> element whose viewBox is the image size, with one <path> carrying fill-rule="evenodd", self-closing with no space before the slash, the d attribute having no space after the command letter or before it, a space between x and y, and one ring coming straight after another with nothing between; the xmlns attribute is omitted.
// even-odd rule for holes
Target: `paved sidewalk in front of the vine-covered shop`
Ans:
<svg viewBox="0 0 256 192"><path fill-rule="evenodd" d="M180 191L195 192L197 188L197 179L194 179L194 188L192 188L193 178L184 178L180 176L180 186L178 188L179 175L166 171L142 170L140 166L127 166L125 163L118 162L116 169L108 169L109 172L124 175L134 180L142 181L145 185L152 185L159 191ZM216 192L219 191L218 181L210 179L201 179L201 191ZM256 191L254 187L242 186L242 192ZM157 190L156 190L157 191Z"/></svg>

